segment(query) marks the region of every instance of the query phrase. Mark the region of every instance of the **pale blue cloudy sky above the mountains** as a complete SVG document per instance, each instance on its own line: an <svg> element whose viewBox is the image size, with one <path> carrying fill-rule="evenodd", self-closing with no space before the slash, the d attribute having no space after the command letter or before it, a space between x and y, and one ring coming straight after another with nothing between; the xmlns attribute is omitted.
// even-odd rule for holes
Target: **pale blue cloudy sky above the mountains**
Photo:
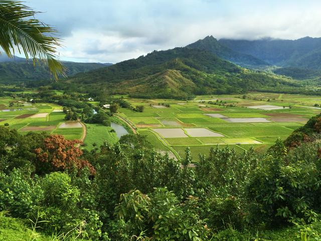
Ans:
<svg viewBox="0 0 321 241"><path fill-rule="evenodd" d="M215 38L321 37L320 0L27 0L61 60L111 62Z"/></svg>

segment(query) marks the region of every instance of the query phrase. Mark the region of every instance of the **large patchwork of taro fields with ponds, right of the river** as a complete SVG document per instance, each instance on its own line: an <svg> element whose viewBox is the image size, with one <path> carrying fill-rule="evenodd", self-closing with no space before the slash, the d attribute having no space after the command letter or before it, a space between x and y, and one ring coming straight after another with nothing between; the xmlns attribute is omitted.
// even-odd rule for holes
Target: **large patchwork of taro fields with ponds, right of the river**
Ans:
<svg viewBox="0 0 321 241"><path fill-rule="evenodd" d="M178 158L190 147L194 160L217 145L236 152L250 147L264 152L321 110L319 96L275 93L127 100L132 106L144 105L143 112L119 109L137 133L146 135L155 149Z"/></svg>

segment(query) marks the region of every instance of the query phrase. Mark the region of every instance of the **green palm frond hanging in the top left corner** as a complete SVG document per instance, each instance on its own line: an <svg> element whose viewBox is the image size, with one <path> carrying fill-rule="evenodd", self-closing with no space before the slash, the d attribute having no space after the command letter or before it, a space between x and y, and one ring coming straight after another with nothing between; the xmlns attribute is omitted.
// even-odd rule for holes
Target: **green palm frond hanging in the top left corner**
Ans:
<svg viewBox="0 0 321 241"><path fill-rule="evenodd" d="M35 19L37 13L23 2L0 0L0 46L9 57L17 48L27 59L32 58L34 65L45 63L57 80L67 71L56 55L61 40L53 36L56 29Z"/></svg>

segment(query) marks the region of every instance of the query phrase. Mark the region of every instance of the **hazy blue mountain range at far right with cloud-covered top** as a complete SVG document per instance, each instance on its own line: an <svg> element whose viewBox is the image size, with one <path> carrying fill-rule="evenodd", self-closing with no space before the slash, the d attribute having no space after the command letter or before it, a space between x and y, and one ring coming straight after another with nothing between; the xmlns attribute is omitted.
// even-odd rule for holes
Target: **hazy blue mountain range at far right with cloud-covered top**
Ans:
<svg viewBox="0 0 321 241"><path fill-rule="evenodd" d="M321 70L321 38L218 41L236 52L249 54L271 65Z"/></svg>

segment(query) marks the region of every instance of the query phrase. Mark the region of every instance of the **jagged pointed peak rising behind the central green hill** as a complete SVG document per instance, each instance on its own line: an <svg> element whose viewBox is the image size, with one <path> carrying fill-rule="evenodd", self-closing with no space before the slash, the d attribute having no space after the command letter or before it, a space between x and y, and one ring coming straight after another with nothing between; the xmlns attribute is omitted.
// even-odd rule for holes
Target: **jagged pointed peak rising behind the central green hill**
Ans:
<svg viewBox="0 0 321 241"><path fill-rule="evenodd" d="M209 51L242 67L256 68L269 65L261 59L255 58L249 54L239 53L229 47L226 47L225 45L222 45L213 36L207 36L206 38L200 39L195 43L187 45L186 47Z"/></svg>

